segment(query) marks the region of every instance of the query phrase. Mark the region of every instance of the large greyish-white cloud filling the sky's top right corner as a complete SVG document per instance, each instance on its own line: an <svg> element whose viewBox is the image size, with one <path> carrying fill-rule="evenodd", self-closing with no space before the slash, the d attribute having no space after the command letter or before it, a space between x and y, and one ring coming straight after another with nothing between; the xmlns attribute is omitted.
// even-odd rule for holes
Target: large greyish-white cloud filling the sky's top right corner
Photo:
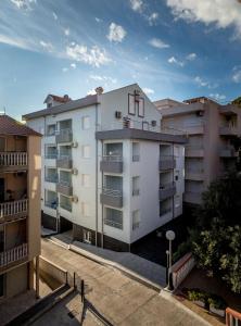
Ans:
<svg viewBox="0 0 241 326"><path fill-rule="evenodd" d="M241 37L241 10L238 0L167 0L173 14L187 22L215 24L218 28L234 26Z"/></svg>

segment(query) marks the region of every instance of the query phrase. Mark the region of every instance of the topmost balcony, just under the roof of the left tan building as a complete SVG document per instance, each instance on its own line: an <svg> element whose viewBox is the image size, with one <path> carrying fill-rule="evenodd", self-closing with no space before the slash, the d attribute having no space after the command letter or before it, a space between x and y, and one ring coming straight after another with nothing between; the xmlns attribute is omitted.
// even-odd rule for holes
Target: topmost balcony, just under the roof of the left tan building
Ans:
<svg viewBox="0 0 241 326"><path fill-rule="evenodd" d="M0 152L0 172L27 170L26 152Z"/></svg>

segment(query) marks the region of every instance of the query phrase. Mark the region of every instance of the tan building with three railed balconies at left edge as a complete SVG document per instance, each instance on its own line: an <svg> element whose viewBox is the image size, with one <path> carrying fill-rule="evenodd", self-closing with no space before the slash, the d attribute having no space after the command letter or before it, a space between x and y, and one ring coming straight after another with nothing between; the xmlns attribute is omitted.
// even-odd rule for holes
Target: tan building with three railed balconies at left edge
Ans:
<svg viewBox="0 0 241 326"><path fill-rule="evenodd" d="M34 288L34 260L38 267L40 254L40 134L0 115L0 303Z"/></svg>

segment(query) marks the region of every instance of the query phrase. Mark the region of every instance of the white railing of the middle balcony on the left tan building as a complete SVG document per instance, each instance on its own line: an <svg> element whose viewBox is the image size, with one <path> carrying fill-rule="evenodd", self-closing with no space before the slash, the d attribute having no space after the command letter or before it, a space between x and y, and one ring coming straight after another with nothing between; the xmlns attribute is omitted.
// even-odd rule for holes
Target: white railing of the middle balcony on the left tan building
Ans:
<svg viewBox="0 0 241 326"><path fill-rule="evenodd" d="M28 199L0 203L0 218L20 213L27 213Z"/></svg>

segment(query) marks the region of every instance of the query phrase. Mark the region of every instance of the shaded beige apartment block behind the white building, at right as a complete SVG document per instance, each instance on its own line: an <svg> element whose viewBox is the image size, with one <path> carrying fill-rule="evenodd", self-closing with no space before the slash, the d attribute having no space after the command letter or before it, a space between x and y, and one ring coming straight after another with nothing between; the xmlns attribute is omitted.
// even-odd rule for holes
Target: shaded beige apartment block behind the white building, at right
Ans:
<svg viewBox="0 0 241 326"><path fill-rule="evenodd" d="M188 135L183 201L200 204L210 183L236 164L232 140L241 135L241 110L205 97L183 102L164 99L154 104L166 133Z"/></svg>

